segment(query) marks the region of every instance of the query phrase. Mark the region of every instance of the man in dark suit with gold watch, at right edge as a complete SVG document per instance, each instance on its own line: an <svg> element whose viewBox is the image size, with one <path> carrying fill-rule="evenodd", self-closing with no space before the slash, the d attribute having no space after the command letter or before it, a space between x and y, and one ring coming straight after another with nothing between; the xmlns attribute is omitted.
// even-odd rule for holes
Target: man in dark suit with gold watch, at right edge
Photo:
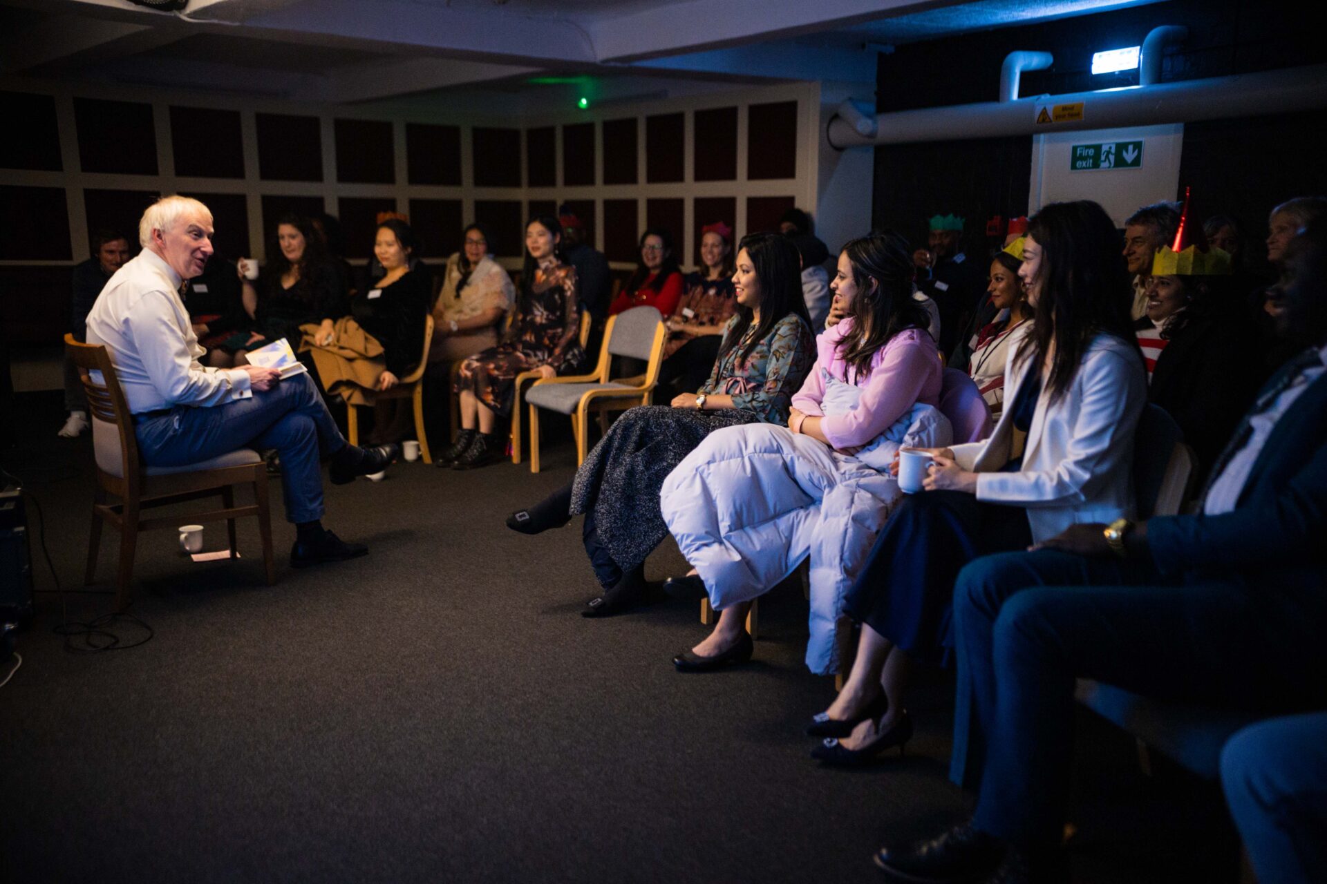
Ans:
<svg viewBox="0 0 1327 884"><path fill-rule="evenodd" d="M1270 302L1300 354L1258 395L1198 513L1075 525L959 574L955 734L971 736L954 761L981 770L979 802L967 824L880 851L893 880L1068 881L1079 676L1269 714L1327 705L1327 225L1296 237Z"/></svg>

